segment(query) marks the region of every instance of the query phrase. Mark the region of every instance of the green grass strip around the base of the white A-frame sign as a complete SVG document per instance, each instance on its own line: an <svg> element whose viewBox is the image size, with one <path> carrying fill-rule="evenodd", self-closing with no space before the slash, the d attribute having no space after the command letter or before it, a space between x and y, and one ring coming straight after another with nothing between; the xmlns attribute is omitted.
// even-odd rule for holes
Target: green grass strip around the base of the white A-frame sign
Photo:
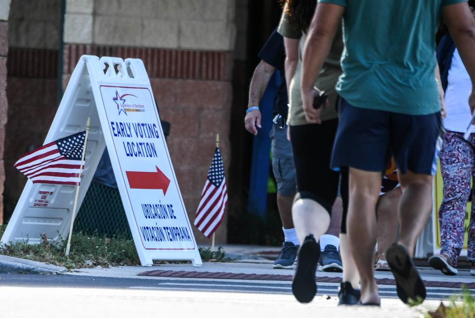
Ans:
<svg viewBox="0 0 475 318"><path fill-rule="evenodd" d="M3 235L5 227L5 225L0 226L0 236ZM40 244L31 245L28 242L1 244L0 254L63 266L68 269L99 265L102 267L140 265L134 241L120 236L108 238L105 235L73 232L69 256L64 255L66 244L67 240L64 239L58 242L49 242L44 237ZM215 252L209 248L199 248L199 252L203 262L225 261L225 253L221 247ZM165 264L166 262L161 263Z"/></svg>

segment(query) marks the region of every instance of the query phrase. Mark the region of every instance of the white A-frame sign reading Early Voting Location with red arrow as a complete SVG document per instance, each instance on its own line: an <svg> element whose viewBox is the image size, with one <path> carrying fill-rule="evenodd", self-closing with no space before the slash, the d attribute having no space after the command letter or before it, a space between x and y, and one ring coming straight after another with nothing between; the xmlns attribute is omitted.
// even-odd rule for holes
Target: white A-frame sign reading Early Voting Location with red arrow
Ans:
<svg viewBox="0 0 475 318"><path fill-rule="evenodd" d="M84 131L88 117L91 129L78 207L107 146L142 266L153 260L201 265L142 60L83 55L45 144ZM28 180L1 242L38 243L42 233L53 240L66 238L75 190Z"/></svg>

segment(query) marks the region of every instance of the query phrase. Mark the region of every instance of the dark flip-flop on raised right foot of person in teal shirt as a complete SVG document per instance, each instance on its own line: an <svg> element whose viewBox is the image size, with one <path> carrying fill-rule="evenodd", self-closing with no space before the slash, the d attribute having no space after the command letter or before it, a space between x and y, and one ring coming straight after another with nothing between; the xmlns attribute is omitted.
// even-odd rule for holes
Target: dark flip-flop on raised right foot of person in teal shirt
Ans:
<svg viewBox="0 0 475 318"><path fill-rule="evenodd" d="M387 250L386 260L394 275L399 299L405 304L421 304L427 296L426 286L407 250L401 245L391 245Z"/></svg>

